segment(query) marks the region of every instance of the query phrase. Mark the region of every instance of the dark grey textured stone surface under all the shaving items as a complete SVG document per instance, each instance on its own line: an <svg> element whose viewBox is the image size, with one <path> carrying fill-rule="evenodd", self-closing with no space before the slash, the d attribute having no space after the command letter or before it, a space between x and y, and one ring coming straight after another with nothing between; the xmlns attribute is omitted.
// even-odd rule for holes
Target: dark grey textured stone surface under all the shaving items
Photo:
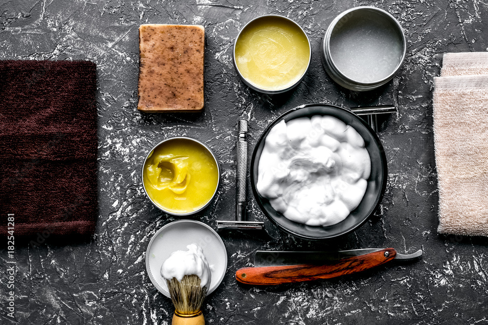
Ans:
<svg viewBox="0 0 488 325"><path fill-rule="evenodd" d="M386 87L367 94L331 81L319 48L329 22L357 5L383 8L405 28L407 58ZM278 13L295 19L312 44L307 76L272 98L249 90L232 66L232 45L250 19ZM266 233L223 233L228 270L204 305L207 324L487 324L487 240L437 234L437 180L432 134L432 78L444 52L487 51L488 5L478 0L12 0L0 1L0 58L85 59L98 68L99 200L96 234L87 241L17 245L18 324L170 324L171 301L149 282L144 252L151 236L175 220L146 199L139 176L151 146L173 135L208 144L222 164L213 204L195 218L215 227L234 216L234 155L239 117L250 121L250 151L276 116L304 103L344 107L395 104L382 120L388 160L385 215L325 242L284 234L253 201L250 217ZM202 114L137 111L138 27L202 24L206 32ZM481 194L481 193L480 193ZM486 193L482 193L486 195ZM0 257L5 264L4 244ZM234 279L257 249L424 249L412 263L280 287L246 287ZM4 284L4 271L2 270ZM2 285L3 286L3 285ZM4 287L1 288L2 297ZM4 300L4 299L2 299ZM1 324L5 316L2 302Z"/></svg>

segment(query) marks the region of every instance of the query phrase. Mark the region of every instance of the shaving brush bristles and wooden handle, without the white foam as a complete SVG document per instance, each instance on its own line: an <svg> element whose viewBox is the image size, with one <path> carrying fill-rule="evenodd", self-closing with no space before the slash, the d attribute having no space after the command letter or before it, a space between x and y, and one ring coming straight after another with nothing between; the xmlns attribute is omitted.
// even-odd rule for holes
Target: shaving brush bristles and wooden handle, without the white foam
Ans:
<svg viewBox="0 0 488 325"><path fill-rule="evenodd" d="M197 275L185 275L182 281L166 279L169 295L175 306L172 325L204 325L202 306L207 287L201 286Z"/></svg>

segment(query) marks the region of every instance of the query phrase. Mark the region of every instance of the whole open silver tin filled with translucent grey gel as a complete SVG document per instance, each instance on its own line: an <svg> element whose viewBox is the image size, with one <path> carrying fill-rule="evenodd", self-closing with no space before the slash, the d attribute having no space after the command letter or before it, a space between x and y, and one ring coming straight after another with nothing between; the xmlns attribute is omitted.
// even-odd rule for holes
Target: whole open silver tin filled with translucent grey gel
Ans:
<svg viewBox="0 0 488 325"><path fill-rule="evenodd" d="M341 86L368 91L390 81L405 60L402 26L385 10L361 6L330 23L322 42L322 63Z"/></svg>

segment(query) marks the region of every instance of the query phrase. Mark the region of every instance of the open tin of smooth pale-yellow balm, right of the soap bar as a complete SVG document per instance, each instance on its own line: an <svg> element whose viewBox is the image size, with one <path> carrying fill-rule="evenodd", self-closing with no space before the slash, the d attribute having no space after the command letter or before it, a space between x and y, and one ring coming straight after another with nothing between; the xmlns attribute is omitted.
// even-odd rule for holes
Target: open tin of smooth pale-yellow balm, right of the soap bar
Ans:
<svg viewBox="0 0 488 325"><path fill-rule="evenodd" d="M305 32L292 20L263 16L241 31L234 56L239 73L255 87L287 90L305 74L310 44Z"/></svg>

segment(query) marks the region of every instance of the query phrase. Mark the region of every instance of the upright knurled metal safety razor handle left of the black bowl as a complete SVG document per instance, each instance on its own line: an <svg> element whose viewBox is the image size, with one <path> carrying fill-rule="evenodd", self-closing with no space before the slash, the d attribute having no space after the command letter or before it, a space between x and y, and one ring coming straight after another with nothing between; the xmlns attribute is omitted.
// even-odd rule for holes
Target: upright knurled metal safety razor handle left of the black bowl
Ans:
<svg viewBox="0 0 488 325"><path fill-rule="evenodd" d="M236 172L236 221L245 220L247 174L247 121L239 120Z"/></svg>

